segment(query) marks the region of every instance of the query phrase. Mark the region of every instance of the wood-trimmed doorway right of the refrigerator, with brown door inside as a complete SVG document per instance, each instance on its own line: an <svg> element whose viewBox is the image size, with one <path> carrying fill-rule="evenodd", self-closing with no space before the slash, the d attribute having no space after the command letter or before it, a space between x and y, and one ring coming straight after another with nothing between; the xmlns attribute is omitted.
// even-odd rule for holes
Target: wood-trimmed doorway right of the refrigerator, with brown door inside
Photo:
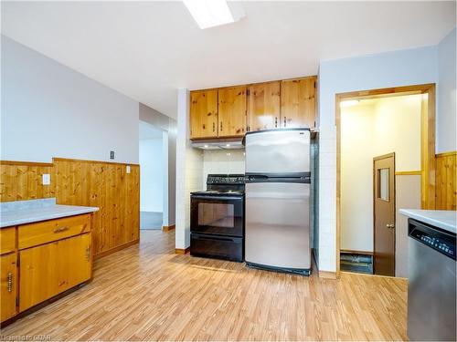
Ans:
<svg viewBox="0 0 457 342"><path fill-rule="evenodd" d="M415 119L406 122L404 114L409 113L408 110L401 107L392 110L393 107L384 106L388 109L377 110L375 119L369 123L370 119L364 111L373 104L382 108L376 104L378 100L392 103L413 101ZM346 116L350 120L345 121L343 117L348 106L356 106L354 109L359 110L358 114L353 110L353 114ZM362 110L360 106L366 108ZM345 270L348 261L356 262L353 264L359 268L361 264L366 266L362 271L353 272L408 276L407 220L397 212L399 208L434 208L434 119L435 86L432 84L336 95L337 276L340 268ZM374 127L374 130L364 129L367 125ZM356 135L362 138L358 141L347 140L348 136ZM414 150L407 152L407 148ZM390 211L393 212L393 218L389 218L393 222L376 223L379 229L384 224L384 228L391 231L389 241L388 235L381 234L378 237L378 243L387 242L387 249L385 246L376 246L377 232L374 227L377 209L374 197L378 189L375 189L377 180L373 170L377 156L390 152L399 152L399 162L396 153L394 166L390 166L388 173L382 171L378 177L387 177L388 181L392 181L394 188L388 188L388 195L390 203L394 205ZM399 192L396 192L396 188ZM354 214L348 214L350 206L356 208ZM386 224L389 226L386 227ZM382 231L379 230L379 233ZM348 244L348 241L355 243ZM375 260L377 257L379 261ZM376 268L379 273L375 271Z"/></svg>

